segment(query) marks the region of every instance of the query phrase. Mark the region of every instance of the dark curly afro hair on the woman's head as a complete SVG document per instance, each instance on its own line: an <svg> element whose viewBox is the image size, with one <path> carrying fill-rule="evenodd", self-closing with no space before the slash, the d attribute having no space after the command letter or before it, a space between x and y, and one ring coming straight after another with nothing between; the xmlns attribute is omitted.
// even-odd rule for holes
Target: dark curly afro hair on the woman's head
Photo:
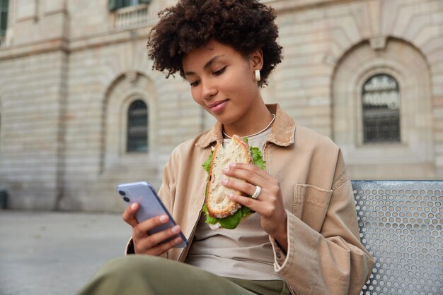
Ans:
<svg viewBox="0 0 443 295"><path fill-rule="evenodd" d="M260 86L282 61L277 44L275 13L256 0L179 0L159 13L159 23L148 39L148 56L166 78L176 72L184 77L183 55L211 40L229 45L243 56L263 51Z"/></svg>

